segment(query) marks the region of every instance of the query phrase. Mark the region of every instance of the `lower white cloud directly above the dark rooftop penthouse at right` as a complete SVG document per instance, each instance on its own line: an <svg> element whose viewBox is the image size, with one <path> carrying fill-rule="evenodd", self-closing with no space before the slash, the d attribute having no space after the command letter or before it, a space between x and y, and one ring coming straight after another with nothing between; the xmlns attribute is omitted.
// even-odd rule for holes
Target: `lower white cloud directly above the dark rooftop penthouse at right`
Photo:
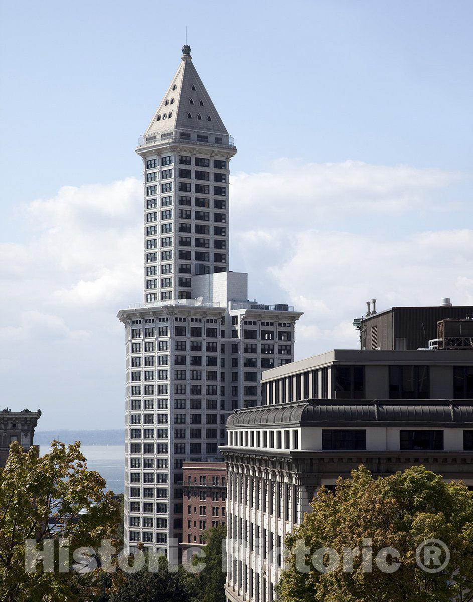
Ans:
<svg viewBox="0 0 473 602"><path fill-rule="evenodd" d="M472 302L473 230L425 232L395 242L315 230L294 238L294 255L270 272L306 312L298 328L307 341L303 355L356 346L351 318L364 313L368 299L377 299L378 309L439 305L444 297L456 305Z"/></svg>

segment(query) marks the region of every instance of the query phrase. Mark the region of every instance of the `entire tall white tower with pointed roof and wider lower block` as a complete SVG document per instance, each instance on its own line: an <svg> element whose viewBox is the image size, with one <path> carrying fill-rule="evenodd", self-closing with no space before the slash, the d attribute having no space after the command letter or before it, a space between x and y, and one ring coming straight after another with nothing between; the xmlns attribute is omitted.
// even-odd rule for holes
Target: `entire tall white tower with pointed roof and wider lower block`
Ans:
<svg viewBox="0 0 473 602"><path fill-rule="evenodd" d="M262 371L294 360L301 315L285 303L250 301L247 275L229 271L229 161L237 149L189 46L182 53L137 148L144 300L118 314L126 327L131 551L138 542L165 553L179 548L184 462L221 457L232 410L256 406Z"/></svg>

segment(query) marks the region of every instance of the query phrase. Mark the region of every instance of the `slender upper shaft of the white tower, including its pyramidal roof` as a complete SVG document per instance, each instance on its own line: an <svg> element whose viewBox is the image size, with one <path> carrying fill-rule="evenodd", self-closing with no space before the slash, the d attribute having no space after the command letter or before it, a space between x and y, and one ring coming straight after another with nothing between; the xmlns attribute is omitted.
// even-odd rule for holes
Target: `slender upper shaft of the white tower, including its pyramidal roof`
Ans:
<svg viewBox="0 0 473 602"><path fill-rule="evenodd" d="M146 180L145 300L191 299L191 276L228 266L229 160L237 152L182 47L137 153Z"/></svg>

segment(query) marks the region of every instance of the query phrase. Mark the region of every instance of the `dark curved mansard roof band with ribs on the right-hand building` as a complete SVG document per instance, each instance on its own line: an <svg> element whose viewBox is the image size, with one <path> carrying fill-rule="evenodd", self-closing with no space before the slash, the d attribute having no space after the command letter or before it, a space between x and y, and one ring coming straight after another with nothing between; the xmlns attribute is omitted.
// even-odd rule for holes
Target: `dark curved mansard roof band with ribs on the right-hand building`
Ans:
<svg viewBox="0 0 473 602"><path fill-rule="evenodd" d="M237 410L227 420L227 427L323 426L327 423L339 423L340 426L347 423L353 426L392 423L473 426L473 401L312 399Z"/></svg>

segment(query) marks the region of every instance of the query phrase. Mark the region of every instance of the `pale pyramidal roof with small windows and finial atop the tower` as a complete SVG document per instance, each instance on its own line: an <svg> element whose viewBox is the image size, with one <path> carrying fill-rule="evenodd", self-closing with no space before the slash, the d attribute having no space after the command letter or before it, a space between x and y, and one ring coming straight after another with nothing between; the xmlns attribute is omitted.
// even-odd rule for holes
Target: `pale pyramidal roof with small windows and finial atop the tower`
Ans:
<svg viewBox="0 0 473 602"><path fill-rule="evenodd" d="M146 129L146 136L170 129L228 135L194 67L190 51L190 46L182 46L181 64Z"/></svg>

